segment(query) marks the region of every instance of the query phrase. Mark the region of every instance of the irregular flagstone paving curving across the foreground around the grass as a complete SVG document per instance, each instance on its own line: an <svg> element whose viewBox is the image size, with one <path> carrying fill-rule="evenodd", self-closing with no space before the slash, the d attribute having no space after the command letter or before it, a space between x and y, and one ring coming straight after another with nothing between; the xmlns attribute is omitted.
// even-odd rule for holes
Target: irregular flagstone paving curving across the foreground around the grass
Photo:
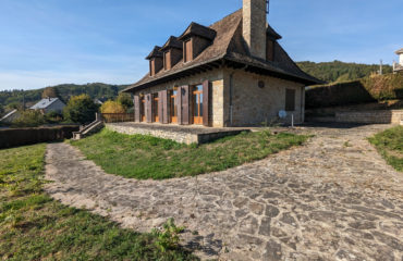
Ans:
<svg viewBox="0 0 403 261"><path fill-rule="evenodd" d="M366 137L388 125L305 127L307 145L220 173L169 181L106 174L48 145L47 191L149 232L169 217L202 259L403 260L403 174Z"/></svg>

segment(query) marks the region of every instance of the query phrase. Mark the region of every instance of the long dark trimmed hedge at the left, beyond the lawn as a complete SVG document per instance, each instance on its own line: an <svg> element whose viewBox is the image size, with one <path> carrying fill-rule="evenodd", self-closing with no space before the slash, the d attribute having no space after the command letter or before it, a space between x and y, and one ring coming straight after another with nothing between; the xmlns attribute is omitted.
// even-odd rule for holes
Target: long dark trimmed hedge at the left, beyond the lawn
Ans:
<svg viewBox="0 0 403 261"><path fill-rule="evenodd" d="M0 149L69 139L80 126L0 129Z"/></svg>

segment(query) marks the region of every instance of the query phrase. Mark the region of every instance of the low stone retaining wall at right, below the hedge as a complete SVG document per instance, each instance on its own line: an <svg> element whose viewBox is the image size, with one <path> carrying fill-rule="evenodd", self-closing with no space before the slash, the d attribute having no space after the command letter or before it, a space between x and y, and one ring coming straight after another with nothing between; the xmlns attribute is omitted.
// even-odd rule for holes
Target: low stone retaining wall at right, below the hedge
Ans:
<svg viewBox="0 0 403 261"><path fill-rule="evenodd" d="M337 112L335 121L340 123L400 124L403 110Z"/></svg>

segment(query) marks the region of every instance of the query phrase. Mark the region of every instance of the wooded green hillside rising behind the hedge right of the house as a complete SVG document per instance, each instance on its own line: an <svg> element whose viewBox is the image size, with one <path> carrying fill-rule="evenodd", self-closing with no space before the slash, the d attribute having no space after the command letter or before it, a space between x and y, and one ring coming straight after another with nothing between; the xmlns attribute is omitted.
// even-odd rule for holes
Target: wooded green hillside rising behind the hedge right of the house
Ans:
<svg viewBox="0 0 403 261"><path fill-rule="evenodd" d="M333 62L297 62L304 72L328 83L354 80L379 71L379 64ZM383 65L383 73L392 73L392 66Z"/></svg>

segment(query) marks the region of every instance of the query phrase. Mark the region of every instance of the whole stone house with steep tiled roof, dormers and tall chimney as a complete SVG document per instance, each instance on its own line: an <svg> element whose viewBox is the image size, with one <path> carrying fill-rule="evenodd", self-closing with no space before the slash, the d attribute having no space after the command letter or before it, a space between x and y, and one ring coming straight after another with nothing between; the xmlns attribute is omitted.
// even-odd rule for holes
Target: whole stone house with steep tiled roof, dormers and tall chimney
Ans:
<svg viewBox="0 0 403 261"><path fill-rule="evenodd" d="M267 23L266 0L203 26L191 23L146 58L149 73L124 89L134 97L136 122L252 126L304 122L305 86L320 80L304 73ZM280 120L280 111L288 116Z"/></svg>

